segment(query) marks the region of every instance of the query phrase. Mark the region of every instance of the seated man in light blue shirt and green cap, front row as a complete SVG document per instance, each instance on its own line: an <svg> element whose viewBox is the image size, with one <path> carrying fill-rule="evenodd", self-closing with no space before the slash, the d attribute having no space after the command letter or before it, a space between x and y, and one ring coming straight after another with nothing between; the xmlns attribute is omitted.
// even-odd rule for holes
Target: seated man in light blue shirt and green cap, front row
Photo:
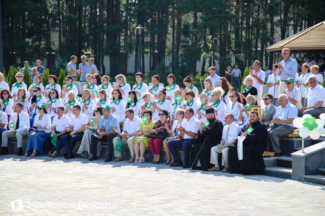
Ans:
<svg viewBox="0 0 325 216"><path fill-rule="evenodd" d="M107 142L108 156L105 162L112 161L113 138L118 136L117 133L121 134L119 120L116 116L110 114L110 106L106 105L102 108L102 111L103 117L99 121L99 127L97 130L98 137L91 136L90 153L92 156L88 159L89 161L97 160L97 141ZM104 128L105 132L103 132Z"/></svg>

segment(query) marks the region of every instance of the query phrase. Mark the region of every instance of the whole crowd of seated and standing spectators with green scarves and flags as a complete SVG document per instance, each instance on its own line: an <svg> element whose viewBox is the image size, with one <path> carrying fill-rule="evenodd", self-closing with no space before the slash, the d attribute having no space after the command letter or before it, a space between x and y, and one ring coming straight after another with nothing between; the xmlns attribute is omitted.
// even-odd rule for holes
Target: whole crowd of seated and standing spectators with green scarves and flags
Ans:
<svg viewBox="0 0 325 216"><path fill-rule="evenodd" d="M10 88L0 73L0 155L8 154L8 139L16 137L20 156L45 153L55 158L64 146L65 159L79 154L93 161L98 160L101 142L107 142L105 162L122 161L121 152L127 145L131 155L128 163L144 163L149 148L154 157L151 163L159 164L163 147L165 165L171 167L193 165L219 171L218 154L222 154L222 172L259 173L265 168L264 151L281 156L279 138L294 131L294 118L325 113L319 67L305 63L297 76L297 62L290 57L290 50L283 49L281 55L284 60L267 71L267 79L256 60L243 80L244 89L240 89L242 74L237 65L227 69L226 77L210 67L202 92L189 76L182 85L176 85L174 74L166 77L166 87L160 85L159 75L152 76L151 84L146 85L140 72L135 74L132 87L123 74L115 77L116 85L111 85L110 77L100 77L94 60L87 63L84 55L79 70L77 57L71 57L67 68L72 75L66 76L63 86L57 84L55 75L49 76L49 85L42 85L44 68L40 61L30 70L31 86L26 86L19 72ZM77 74L86 82L82 97L72 83ZM263 96L265 80L269 89ZM262 113L250 109L262 99ZM24 137L28 142L23 152ZM73 152L78 141L80 147ZM243 147L240 160L238 143ZM178 148L183 149L184 158L178 155Z"/></svg>

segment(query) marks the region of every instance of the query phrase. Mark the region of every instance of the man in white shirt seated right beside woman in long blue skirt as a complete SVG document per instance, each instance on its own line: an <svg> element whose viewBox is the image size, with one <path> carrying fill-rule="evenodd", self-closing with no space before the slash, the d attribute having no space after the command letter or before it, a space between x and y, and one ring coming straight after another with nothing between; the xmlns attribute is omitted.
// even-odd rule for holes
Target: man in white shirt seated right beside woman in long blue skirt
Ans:
<svg viewBox="0 0 325 216"><path fill-rule="evenodd" d="M58 106L56 107L57 116L54 117L51 127L51 132L54 134L53 137L58 137L59 142L55 151L52 154L52 136L51 134L46 135L45 137L45 150L48 151L48 156L56 157L57 153L60 152L62 148L62 139L60 139L63 135L67 133L67 129L70 128L70 118L64 114L64 107ZM51 154L50 154L51 153ZM67 155L66 155L67 156Z"/></svg>

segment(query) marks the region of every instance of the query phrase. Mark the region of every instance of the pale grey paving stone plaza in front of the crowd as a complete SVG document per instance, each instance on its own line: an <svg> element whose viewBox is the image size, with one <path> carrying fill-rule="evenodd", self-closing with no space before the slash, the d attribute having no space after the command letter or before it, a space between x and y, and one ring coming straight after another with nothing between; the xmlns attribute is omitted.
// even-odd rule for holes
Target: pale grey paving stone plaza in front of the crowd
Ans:
<svg viewBox="0 0 325 216"><path fill-rule="evenodd" d="M324 215L321 185L83 158L0 157L0 215Z"/></svg>

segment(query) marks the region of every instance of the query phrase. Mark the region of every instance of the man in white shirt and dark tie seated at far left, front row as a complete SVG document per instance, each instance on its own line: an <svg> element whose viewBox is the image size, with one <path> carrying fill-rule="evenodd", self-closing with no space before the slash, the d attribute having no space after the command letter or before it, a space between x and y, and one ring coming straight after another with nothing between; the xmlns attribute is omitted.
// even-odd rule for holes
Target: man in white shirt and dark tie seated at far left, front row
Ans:
<svg viewBox="0 0 325 216"><path fill-rule="evenodd" d="M15 113L11 115L9 122L10 131L2 132L2 148L0 155L8 154L8 139L17 138L18 156L22 153L22 138L28 136L29 131L29 115L22 111L23 105L20 102L15 103ZM1 114L2 115L2 114ZM5 115L6 116L6 115ZM0 125L1 126L1 125Z"/></svg>

